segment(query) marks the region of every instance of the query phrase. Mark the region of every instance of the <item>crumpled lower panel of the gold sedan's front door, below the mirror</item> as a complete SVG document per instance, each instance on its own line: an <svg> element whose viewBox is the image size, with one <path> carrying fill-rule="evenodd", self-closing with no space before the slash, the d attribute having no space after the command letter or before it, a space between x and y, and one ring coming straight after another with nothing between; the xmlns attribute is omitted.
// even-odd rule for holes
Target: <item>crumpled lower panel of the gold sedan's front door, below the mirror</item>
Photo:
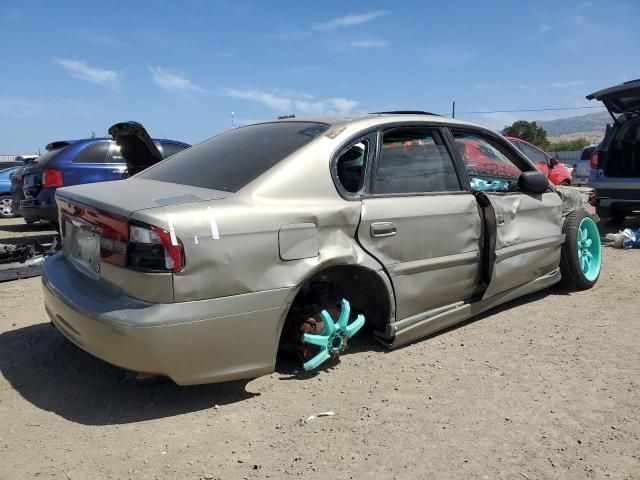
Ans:
<svg viewBox="0 0 640 480"><path fill-rule="evenodd" d="M491 281L483 298L524 285L560 263L562 200L555 192L484 193L488 228L495 238L489 248ZM491 226L493 224L493 226Z"/></svg>

